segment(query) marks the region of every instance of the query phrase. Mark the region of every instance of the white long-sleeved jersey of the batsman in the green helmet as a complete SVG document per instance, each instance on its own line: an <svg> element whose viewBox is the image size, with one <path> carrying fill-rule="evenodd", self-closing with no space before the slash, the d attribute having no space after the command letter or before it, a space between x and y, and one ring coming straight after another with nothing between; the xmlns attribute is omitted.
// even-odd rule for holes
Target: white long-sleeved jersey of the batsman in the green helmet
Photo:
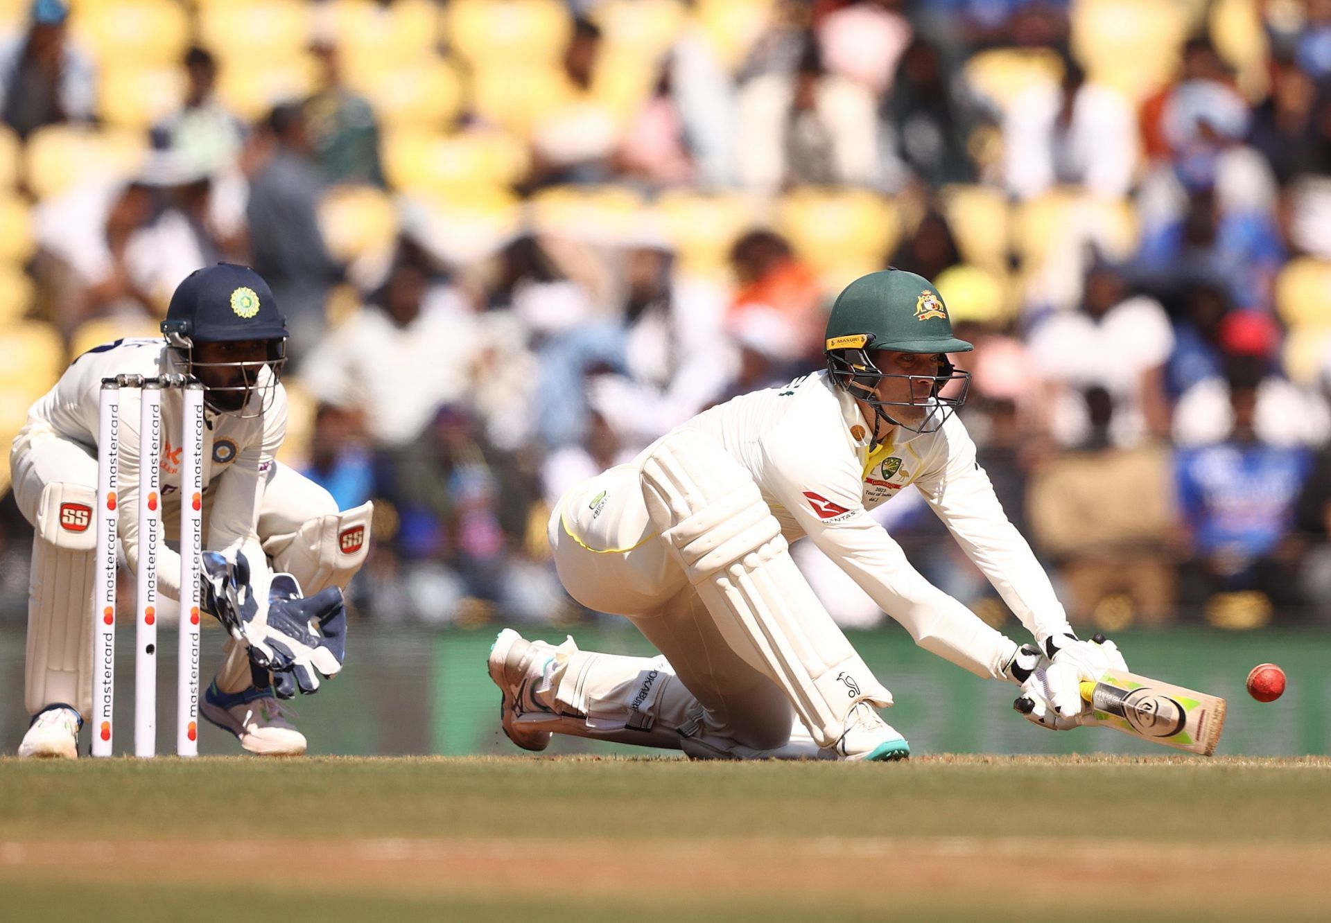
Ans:
<svg viewBox="0 0 1331 923"><path fill-rule="evenodd" d="M1037 641L1067 630L1049 577L1008 521L956 415L932 434L897 428L870 451L872 428L858 404L820 371L735 398L685 426L717 439L749 469L788 541L809 536L922 648L1001 677L1014 645L929 584L866 515L908 484Z"/></svg>

